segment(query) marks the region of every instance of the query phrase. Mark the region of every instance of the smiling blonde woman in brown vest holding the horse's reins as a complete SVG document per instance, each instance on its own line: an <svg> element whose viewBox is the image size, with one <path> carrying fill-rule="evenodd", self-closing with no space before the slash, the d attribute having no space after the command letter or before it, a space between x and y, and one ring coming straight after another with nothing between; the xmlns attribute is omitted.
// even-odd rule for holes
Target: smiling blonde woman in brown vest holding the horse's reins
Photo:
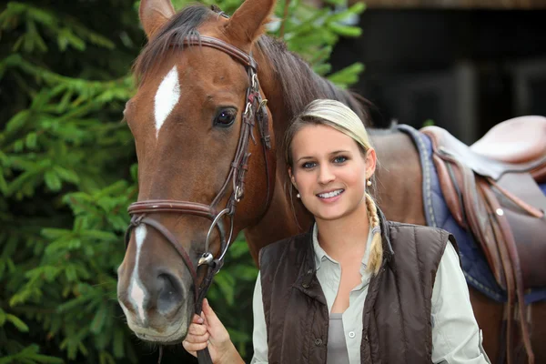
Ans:
<svg viewBox="0 0 546 364"><path fill-rule="evenodd" d="M453 237L386 221L359 117L313 101L289 127L288 176L315 217L260 251L252 363L486 363ZM183 343L243 362L206 302Z"/></svg>

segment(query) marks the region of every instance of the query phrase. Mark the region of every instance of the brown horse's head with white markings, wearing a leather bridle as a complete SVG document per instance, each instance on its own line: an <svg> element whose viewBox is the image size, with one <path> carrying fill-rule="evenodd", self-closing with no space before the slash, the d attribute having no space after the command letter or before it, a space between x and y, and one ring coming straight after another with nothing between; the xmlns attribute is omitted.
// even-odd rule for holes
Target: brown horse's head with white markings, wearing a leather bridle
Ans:
<svg viewBox="0 0 546 364"><path fill-rule="evenodd" d="M175 14L169 0L140 4L148 45L125 110L139 194L117 295L141 339L186 336L211 260L267 208L273 131L248 53L273 5L248 0L227 18L197 5Z"/></svg>

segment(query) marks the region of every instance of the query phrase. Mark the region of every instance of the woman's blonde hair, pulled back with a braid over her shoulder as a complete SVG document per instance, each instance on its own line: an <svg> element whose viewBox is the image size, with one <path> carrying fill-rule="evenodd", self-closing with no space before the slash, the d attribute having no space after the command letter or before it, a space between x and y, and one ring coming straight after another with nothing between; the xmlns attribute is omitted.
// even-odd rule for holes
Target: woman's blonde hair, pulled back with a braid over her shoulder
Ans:
<svg viewBox="0 0 546 364"><path fill-rule="evenodd" d="M292 140L299 130L301 130L304 126L309 125L330 126L346 136L349 136L355 142L357 142L357 145L364 156L366 156L366 153L371 147L368 132L366 131L362 120L360 120L359 116L355 114L354 111L336 100L317 99L308 104L303 112L296 116L292 124L288 126L288 130L285 134L284 146L285 160L287 162L287 166L290 168L294 167L291 149ZM372 180L372 183L373 182L374 181ZM291 192L292 189L290 188L290 196ZM377 274L379 273L379 268L381 268L381 263L383 260L383 244L381 240L381 230L379 227L378 207L374 201L374 198L369 194L369 192L366 191L365 193L369 228L373 231L367 269L369 272Z"/></svg>

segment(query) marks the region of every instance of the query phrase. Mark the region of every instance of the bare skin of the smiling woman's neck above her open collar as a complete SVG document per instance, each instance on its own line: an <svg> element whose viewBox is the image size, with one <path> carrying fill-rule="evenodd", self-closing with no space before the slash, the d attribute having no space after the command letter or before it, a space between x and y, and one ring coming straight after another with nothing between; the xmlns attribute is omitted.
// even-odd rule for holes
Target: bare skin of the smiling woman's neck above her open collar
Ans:
<svg viewBox="0 0 546 364"><path fill-rule="evenodd" d="M348 216L335 220L316 219L319 245L329 257L341 261L349 257L362 258L366 251L369 218L366 201Z"/></svg>

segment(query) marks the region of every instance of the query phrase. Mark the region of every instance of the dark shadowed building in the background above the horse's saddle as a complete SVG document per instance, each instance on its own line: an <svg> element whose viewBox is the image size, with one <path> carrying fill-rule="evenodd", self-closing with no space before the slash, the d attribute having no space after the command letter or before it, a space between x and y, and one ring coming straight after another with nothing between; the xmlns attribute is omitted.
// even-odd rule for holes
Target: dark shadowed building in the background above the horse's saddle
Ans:
<svg viewBox="0 0 546 364"><path fill-rule="evenodd" d="M546 116L546 0L368 0L363 35L343 39L335 69L390 120L446 127L466 143L502 120Z"/></svg>

